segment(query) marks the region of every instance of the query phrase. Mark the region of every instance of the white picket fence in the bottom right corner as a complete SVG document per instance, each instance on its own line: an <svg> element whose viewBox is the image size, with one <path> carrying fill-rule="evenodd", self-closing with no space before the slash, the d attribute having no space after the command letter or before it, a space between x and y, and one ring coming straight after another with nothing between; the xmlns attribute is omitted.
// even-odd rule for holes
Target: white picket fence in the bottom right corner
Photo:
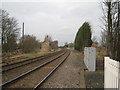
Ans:
<svg viewBox="0 0 120 90"><path fill-rule="evenodd" d="M104 88L120 90L120 62L105 57Z"/></svg>

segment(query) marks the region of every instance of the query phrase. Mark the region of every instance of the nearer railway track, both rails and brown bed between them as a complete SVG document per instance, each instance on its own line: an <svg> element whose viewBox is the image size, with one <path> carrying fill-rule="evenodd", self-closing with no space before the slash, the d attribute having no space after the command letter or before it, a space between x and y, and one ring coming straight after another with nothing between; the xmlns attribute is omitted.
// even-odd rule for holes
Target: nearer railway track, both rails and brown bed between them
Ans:
<svg viewBox="0 0 120 90"><path fill-rule="evenodd" d="M70 51L51 58L49 61L3 83L5 88L32 88L38 89L40 85L65 61Z"/></svg>

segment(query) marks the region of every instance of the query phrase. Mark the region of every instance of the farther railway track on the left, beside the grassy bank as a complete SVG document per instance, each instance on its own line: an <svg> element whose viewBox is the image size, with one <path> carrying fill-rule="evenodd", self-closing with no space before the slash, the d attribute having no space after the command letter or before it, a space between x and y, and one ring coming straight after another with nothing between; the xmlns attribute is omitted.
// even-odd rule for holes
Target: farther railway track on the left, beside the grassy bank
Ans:
<svg viewBox="0 0 120 90"><path fill-rule="evenodd" d="M13 70L13 69L16 69L16 68L21 67L21 66L25 66L25 65L33 63L33 62L37 62L38 60L42 60L42 59L54 56L54 55L59 54L61 52L62 51L58 51L56 53L51 53L51 54L48 54L48 55L44 55L44 56L40 56L40 57L36 57L36 58L32 58L32 59L27 59L27 60L20 61L20 62L16 62L16 63L4 65L4 66L2 66L2 71L0 71L0 73L4 73L6 71Z"/></svg>

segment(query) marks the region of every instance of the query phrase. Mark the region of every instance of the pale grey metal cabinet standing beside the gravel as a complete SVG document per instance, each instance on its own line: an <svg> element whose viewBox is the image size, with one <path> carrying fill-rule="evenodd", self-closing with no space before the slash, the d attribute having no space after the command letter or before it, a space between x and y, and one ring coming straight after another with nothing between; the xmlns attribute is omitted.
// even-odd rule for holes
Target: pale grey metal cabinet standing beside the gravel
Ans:
<svg viewBox="0 0 120 90"><path fill-rule="evenodd" d="M84 48L84 63L89 71L96 70L96 48L94 47Z"/></svg>

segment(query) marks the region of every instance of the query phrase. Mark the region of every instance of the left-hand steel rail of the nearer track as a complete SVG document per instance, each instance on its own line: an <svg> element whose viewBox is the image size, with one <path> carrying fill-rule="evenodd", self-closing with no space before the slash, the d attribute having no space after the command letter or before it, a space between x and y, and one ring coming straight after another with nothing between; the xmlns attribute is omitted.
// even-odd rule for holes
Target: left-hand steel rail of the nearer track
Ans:
<svg viewBox="0 0 120 90"><path fill-rule="evenodd" d="M66 52L67 52L67 51L66 51ZM50 61L47 61L47 62L41 64L40 66L37 66L37 67L35 67L35 68L33 68L33 69L31 69L31 70L29 70L29 71L23 73L23 74L21 74L21 75L15 77L15 78L13 78L13 79L11 79L11 80L9 80L9 81L3 83L2 85L0 85L0 88L1 88L1 87L5 87L5 86L9 85L10 83L12 83L12 82L14 82L14 81L16 81L16 80L18 80L18 79L24 77L25 75L28 75L28 74L30 74L30 73L36 71L37 69L39 69L39 68L45 66L46 64L49 64L50 62L52 62L52 61L58 59L59 57L63 56L66 52L60 54L59 56L55 57L54 59L51 59Z"/></svg>

